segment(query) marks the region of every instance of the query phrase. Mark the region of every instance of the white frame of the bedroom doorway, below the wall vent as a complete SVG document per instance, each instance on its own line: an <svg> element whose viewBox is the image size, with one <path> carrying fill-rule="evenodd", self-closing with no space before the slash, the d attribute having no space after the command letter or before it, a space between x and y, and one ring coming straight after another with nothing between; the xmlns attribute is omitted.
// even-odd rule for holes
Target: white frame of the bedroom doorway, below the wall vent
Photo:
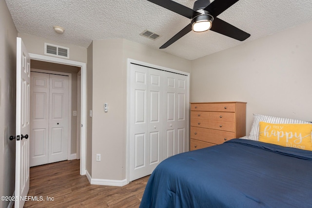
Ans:
<svg viewBox="0 0 312 208"><path fill-rule="evenodd" d="M80 175L86 174L86 125L87 125L87 105L86 105L86 97L87 97L87 68L86 63L73 61L73 60L65 60L58 57L48 57L38 54L29 54L30 59L53 62L71 66L78 66L81 68L81 132L80 132ZM71 113L71 112L70 112Z"/></svg>

